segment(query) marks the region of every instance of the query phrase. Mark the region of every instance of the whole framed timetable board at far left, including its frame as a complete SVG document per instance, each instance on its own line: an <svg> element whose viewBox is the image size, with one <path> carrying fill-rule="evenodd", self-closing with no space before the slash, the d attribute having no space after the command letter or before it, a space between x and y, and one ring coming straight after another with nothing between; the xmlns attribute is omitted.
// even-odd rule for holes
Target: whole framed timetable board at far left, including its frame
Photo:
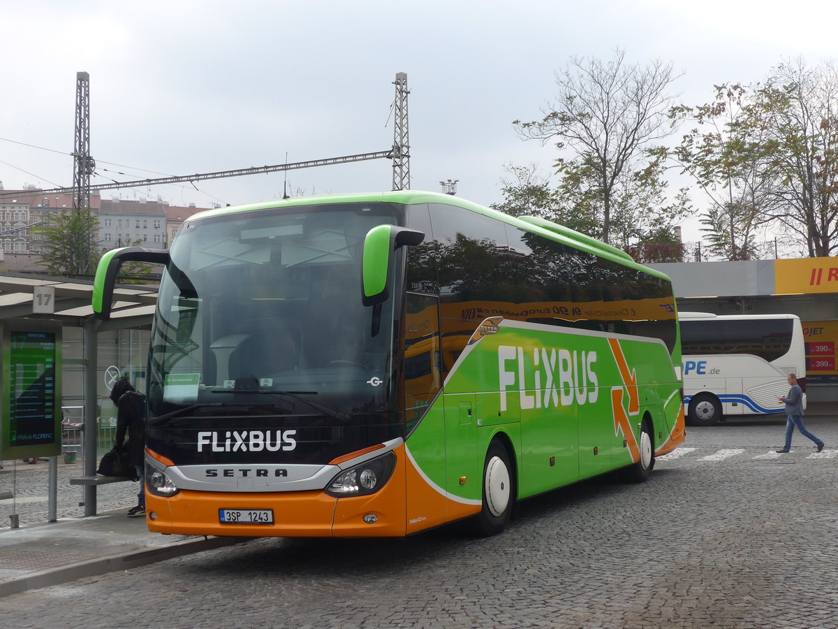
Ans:
<svg viewBox="0 0 838 629"><path fill-rule="evenodd" d="M3 325L3 458L61 453L61 328Z"/></svg>

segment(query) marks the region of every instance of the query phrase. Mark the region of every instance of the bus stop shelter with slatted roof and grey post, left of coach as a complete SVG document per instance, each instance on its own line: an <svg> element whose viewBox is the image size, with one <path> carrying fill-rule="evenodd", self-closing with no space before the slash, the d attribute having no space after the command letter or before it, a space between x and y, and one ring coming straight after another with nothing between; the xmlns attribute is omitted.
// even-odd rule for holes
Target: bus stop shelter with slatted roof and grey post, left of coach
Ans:
<svg viewBox="0 0 838 629"><path fill-rule="evenodd" d="M151 325L158 287L118 284L114 291L111 319L93 315L93 283L86 280L49 278L25 274L0 274L0 323L16 320L59 322L75 327L84 336L84 430L82 455L84 476L74 479L84 486L85 516L96 515L96 486L106 477L96 477L96 372L98 335L107 330L143 328ZM5 392L3 392L5 394ZM2 455L2 453L0 453ZM54 465L52 465L54 467ZM52 470L51 470L52 471ZM50 475L50 515L54 519L53 475Z"/></svg>

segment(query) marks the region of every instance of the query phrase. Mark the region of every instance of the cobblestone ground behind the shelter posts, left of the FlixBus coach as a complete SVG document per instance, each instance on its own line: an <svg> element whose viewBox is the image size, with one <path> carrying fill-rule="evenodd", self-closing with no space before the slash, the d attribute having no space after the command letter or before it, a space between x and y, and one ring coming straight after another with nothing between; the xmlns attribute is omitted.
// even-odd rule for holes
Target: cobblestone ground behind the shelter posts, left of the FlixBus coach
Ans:
<svg viewBox="0 0 838 629"><path fill-rule="evenodd" d="M84 476L84 463L79 457L75 463L68 464L59 457L58 491L56 494L56 516L80 517L85 515L84 489L79 485L70 485L70 478ZM37 463L24 463L22 460L3 461L0 470L0 495L11 491L13 498L0 500L0 529L9 528L13 513L18 514L20 526L42 524L49 515L49 463L39 460ZM106 512L137 504L139 483L120 482L101 485L96 491L96 511Z"/></svg>

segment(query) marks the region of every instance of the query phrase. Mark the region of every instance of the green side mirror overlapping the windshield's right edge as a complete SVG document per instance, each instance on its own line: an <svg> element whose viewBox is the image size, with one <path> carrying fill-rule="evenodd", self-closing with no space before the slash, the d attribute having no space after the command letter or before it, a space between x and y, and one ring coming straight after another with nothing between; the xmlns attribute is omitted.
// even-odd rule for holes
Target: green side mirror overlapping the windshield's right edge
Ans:
<svg viewBox="0 0 838 629"><path fill-rule="evenodd" d="M365 306L380 304L390 296L392 254L402 245L418 245L425 240L423 231L395 225L379 225L367 232L361 266L361 301Z"/></svg>

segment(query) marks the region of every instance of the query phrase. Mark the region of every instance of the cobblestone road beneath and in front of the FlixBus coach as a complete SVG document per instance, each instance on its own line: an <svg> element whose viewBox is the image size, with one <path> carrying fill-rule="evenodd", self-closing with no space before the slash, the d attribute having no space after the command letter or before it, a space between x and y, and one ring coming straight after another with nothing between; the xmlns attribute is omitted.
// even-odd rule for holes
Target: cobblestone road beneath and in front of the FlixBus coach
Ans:
<svg viewBox="0 0 838 629"><path fill-rule="evenodd" d="M522 502L510 528L259 539L0 600L14 627L835 627L838 421L689 429L649 482Z"/></svg>

